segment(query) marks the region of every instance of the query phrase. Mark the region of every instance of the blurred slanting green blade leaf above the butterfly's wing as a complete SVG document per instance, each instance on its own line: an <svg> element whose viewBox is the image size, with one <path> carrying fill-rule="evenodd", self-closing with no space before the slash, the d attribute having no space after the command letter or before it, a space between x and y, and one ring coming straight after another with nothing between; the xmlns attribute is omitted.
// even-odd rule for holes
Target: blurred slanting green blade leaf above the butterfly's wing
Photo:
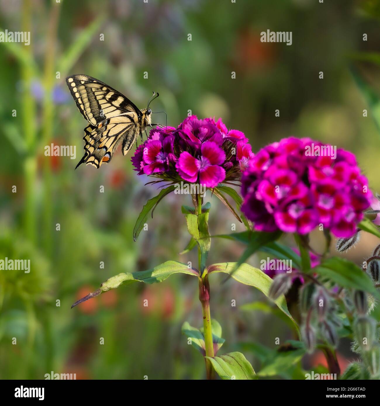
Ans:
<svg viewBox="0 0 380 406"><path fill-rule="evenodd" d="M100 28L104 20L104 16L100 15L98 18L94 19L86 28L79 32L74 41L72 41L70 47L66 52L59 58L57 66L59 71L63 76L67 76L69 71L75 65L76 61L79 59L83 51L90 45L93 36L96 31Z"/></svg>

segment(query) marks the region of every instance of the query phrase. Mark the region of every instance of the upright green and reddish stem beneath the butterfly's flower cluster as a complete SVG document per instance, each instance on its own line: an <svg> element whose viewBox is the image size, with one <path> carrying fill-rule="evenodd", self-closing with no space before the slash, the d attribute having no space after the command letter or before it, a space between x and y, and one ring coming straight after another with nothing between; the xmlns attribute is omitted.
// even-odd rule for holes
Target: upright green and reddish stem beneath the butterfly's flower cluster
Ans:
<svg viewBox="0 0 380 406"><path fill-rule="evenodd" d="M202 198L198 194L198 216L202 214ZM201 250L198 246L198 269L200 272L203 270L201 261ZM210 314L210 285L208 283L207 270L203 271L199 279L199 300L202 304L202 316L203 316L203 334L204 334L204 346L206 351L206 356L214 356L214 343L213 343L213 330L211 327L211 314ZM214 369L211 361L205 358L206 361L206 376L207 379L213 379Z"/></svg>

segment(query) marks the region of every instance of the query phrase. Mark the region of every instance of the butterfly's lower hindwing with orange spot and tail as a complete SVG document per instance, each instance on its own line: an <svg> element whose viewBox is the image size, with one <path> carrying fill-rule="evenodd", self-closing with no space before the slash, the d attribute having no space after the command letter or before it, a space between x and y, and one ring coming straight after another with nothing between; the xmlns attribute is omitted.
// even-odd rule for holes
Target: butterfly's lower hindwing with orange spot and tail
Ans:
<svg viewBox="0 0 380 406"><path fill-rule="evenodd" d="M101 121L98 125L88 125L83 137L85 155L76 168L83 163L100 168L102 163L111 161L113 153L122 141L125 155L137 138L137 120L135 113L127 113ZM126 147L128 149L125 151Z"/></svg>

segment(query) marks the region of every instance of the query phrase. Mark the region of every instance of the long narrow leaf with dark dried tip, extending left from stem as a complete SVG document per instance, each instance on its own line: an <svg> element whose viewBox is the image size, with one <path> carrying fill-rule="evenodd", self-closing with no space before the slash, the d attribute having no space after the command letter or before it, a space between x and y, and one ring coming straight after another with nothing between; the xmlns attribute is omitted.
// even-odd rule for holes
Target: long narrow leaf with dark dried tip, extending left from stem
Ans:
<svg viewBox="0 0 380 406"><path fill-rule="evenodd" d="M161 263L161 265L155 266L153 269L149 269L147 271L142 272L126 272L121 273L104 281L100 288L97 289L95 292L89 293L87 296L79 299L73 305L76 306L79 303L85 302L95 296L102 294L103 292L107 292L111 289L116 289L121 285L130 285L131 283L135 282L144 282L148 284L158 283L165 281L169 276L173 274L188 274L193 276L198 276L198 271L189 268L187 265L177 261L166 261Z"/></svg>

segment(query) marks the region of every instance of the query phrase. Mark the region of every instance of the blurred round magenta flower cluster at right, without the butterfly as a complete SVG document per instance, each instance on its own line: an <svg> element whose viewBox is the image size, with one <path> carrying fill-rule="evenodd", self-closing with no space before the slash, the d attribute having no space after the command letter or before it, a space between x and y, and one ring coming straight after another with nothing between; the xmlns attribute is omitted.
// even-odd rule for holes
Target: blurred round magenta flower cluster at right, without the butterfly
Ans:
<svg viewBox="0 0 380 406"><path fill-rule="evenodd" d="M243 174L242 195L258 230L306 234L323 225L337 237L355 233L372 201L355 155L309 138L261 149Z"/></svg>

